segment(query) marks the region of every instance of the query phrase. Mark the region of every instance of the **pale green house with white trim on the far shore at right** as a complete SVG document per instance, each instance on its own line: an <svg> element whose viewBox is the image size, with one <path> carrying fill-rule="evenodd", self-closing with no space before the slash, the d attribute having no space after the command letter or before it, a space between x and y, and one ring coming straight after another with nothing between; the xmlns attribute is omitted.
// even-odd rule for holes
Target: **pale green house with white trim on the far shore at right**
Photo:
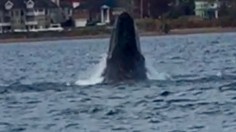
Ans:
<svg viewBox="0 0 236 132"><path fill-rule="evenodd" d="M206 0L195 1L195 15L204 19L218 19L219 18L220 2L215 0L213 2Z"/></svg>

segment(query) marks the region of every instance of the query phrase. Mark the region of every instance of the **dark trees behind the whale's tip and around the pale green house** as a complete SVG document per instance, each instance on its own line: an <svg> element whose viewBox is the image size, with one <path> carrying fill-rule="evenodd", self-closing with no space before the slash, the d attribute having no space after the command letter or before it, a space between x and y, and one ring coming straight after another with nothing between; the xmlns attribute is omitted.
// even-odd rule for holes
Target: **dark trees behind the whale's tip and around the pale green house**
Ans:
<svg viewBox="0 0 236 132"><path fill-rule="evenodd" d="M217 0L206 0L215 2ZM220 17L236 18L236 0L219 0ZM86 0L90 10L99 10L101 4L118 5L126 8L140 18L176 19L195 15L195 0Z"/></svg>

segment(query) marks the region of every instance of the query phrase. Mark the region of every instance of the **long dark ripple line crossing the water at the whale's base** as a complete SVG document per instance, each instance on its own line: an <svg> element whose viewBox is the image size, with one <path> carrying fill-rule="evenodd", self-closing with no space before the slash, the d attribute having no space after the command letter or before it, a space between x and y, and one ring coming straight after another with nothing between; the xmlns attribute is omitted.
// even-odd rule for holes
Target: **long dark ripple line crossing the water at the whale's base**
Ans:
<svg viewBox="0 0 236 132"><path fill-rule="evenodd" d="M0 86L0 94L5 93L12 93L12 92L43 92L43 91L70 91L70 90L81 90L82 88L97 88L99 87L117 87L120 86L134 86L134 87L149 87L152 85L155 86L176 86L178 85L192 85L192 84L198 84L201 85L203 83L220 83L219 84L219 90L221 91L227 91L227 90L234 90L236 86L236 76L234 75L222 75L221 77L215 75L215 76L206 76L206 77L199 77L194 79L176 79L173 77L171 80L147 80L139 83L129 83L129 82L122 82L120 84L94 84L91 85L78 85L74 83L58 83L58 82L41 82L41 83L31 83L31 84L22 84L22 83L13 83L6 86Z"/></svg>

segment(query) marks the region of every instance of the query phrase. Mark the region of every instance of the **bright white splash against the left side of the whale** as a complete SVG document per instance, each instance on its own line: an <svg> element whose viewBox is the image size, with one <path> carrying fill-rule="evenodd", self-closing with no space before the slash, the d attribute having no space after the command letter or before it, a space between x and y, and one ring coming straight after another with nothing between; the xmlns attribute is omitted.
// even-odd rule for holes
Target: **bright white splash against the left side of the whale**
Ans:
<svg viewBox="0 0 236 132"><path fill-rule="evenodd" d="M106 68L106 57L107 55L103 55L102 59L100 60L99 64L96 65L94 68L89 69L91 72L91 76L88 79L78 80L75 82L76 85L80 86L88 86L88 85L95 85L101 83L103 81L102 73Z"/></svg>

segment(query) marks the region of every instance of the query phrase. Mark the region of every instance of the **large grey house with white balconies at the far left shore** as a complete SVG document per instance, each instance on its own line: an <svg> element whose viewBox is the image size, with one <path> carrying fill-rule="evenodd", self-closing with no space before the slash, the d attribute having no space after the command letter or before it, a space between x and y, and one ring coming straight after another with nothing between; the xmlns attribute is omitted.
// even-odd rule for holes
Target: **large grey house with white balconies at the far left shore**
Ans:
<svg viewBox="0 0 236 132"><path fill-rule="evenodd" d="M28 32L59 24L59 8L51 0L1 0L0 31Z"/></svg>

